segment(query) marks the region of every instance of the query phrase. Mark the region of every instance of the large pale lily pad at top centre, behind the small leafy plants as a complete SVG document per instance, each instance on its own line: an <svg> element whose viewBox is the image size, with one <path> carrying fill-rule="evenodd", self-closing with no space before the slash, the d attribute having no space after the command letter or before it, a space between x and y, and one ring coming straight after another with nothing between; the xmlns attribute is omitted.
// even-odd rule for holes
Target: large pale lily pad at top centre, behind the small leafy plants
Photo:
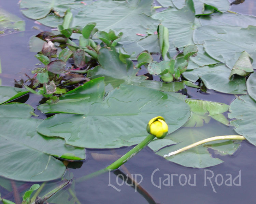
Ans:
<svg viewBox="0 0 256 204"><path fill-rule="evenodd" d="M159 21L151 18L152 10L153 0L100 0L84 6L74 16L72 25L85 26L89 22L97 22L100 31L112 29L123 32L122 41L139 40L142 37L137 33L147 35L149 29L157 28Z"/></svg>

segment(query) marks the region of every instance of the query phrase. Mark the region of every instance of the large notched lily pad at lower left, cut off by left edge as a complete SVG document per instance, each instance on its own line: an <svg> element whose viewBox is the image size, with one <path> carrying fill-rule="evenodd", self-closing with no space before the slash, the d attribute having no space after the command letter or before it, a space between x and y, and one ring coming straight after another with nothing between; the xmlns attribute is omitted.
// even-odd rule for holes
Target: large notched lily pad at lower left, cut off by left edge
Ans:
<svg viewBox="0 0 256 204"><path fill-rule="evenodd" d="M83 148L65 145L61 138L37 133L41 119L30 118L33 108L24 103L0 105L0 175L21 181L49 181L63 175L65 165L52 155L84 159ZM14 128L15 127L15 128Z"/></svg>

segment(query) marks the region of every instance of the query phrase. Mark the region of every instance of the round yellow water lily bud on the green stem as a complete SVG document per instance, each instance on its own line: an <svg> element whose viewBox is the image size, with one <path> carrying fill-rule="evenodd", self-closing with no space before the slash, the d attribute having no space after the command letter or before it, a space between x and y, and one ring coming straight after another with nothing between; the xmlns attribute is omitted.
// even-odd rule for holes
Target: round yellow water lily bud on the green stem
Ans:
<svg viewBox="0 0 256 204"><path fill-rule="evenodd" d="M164 138L168 133L168 125L161 116L152 118L147 124L147 132L157 138Z"/></svg>

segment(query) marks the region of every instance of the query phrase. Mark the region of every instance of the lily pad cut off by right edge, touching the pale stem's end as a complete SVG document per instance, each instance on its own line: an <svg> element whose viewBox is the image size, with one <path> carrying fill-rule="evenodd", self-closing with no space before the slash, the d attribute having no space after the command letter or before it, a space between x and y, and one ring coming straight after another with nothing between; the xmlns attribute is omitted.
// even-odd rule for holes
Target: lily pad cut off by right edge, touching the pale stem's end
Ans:
<svg viewBox="0 0 256 204"><path fill-rule="evenodd" d="M248 95L240 96L230 104L229 111L231 113L228 117L234 118L231 121L231 124L236 127L234 130L256 145L255 101Z"/></svg>

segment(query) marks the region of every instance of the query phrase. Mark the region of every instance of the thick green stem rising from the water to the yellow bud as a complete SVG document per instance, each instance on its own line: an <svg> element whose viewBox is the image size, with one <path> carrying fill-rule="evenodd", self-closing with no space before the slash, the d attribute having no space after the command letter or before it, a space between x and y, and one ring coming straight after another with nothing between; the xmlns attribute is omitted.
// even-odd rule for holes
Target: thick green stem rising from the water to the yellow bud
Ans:
<svg viewBox="0 0 256 204"><path fill-rule="evenodd" d="M85 181L87 179L93 178L93 177L95 177L97 175L100 175L102 173L105 173L105 172L107 172L109 170L117 169L118 167L120 167L121 165L126 163L134 155L136 155L138 152L140 152L144 147L146 147L148 145L148 143L150 143L154 138L155 138L154 135L148 135L141 143L136 145L129 152L127 152L124 156L122 156L119 159L117 159L114 163L112 163L108 167L106 167L104 169L101 169L99 171L90 173L90 174L88 174L86 176L83 176L79 180L76 180L76 182L82 182L82 181Z"/></svg>

